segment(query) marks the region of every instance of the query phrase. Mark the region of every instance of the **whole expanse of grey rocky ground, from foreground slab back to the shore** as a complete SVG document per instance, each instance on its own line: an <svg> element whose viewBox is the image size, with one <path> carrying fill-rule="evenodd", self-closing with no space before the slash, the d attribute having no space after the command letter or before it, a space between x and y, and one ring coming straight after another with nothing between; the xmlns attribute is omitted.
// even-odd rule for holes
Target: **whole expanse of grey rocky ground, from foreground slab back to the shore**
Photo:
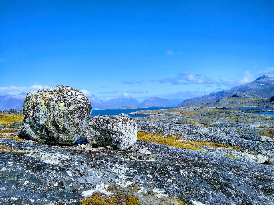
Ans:
<svg viewBox="0 0 274 205"><path fill-rule="evenodd" d="M153 115L135 118L138 137L151 142L127 151L45 145L3 127L0 204L80 204L92 194L146 205L274 204L274 116L256 111L145 111Z"/></svg>

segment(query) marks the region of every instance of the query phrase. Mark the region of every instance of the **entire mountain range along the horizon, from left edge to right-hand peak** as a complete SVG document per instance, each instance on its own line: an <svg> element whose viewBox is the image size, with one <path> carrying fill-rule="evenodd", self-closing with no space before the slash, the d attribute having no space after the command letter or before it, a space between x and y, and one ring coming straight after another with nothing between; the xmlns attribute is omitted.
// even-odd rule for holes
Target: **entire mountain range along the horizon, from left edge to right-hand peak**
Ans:
<svg viewBox="0 0 274 205"><path fill-rule="evenodd" d="M0 96L0 110L12 108L23 109L22 104L26 93L20 95ZM140 103L134 98L116 98L102 101L96 96L88 97L93 109L106 108L130 108L153 106L271 106L274 104L274 78L263 75L250 83L233 87L229 90L209 93L202 97L168 100L159 97L151 97ZM180 103L181 102L181 103Z"/></svg>

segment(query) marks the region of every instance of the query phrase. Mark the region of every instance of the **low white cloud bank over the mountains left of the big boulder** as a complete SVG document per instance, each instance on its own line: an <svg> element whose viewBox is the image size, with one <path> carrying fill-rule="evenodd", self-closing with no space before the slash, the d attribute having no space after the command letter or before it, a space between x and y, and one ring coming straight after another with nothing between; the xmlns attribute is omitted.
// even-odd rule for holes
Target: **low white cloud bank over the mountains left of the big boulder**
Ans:
<svg viewBox="0 0 274 205"><path fill-rule="evenodd" d="M20 93L29 93L31 91L36 91L41 88L49 88L47 85L32 85L30 87L0 87L0 96L1 95L18 95Z"/></svg>

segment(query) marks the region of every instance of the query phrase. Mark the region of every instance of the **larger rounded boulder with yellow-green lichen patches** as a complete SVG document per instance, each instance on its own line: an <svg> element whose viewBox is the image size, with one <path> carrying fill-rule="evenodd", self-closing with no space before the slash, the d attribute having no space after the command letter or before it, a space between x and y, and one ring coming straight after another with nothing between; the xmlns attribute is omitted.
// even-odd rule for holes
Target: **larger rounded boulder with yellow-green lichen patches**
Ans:
<svg viewBox="0 0 274 205"><path fill-rule="evenodd" d="M73 144L86 128L92 111L80 91L57 86L27 94L21 136L47 144Z"/></svg>

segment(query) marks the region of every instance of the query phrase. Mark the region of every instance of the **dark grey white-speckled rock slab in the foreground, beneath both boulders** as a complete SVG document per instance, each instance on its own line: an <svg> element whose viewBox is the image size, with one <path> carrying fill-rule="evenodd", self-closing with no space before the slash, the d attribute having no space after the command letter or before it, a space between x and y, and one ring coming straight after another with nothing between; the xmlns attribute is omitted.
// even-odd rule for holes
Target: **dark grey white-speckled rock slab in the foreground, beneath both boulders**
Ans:
<svg viewBox="0 0 274 205"><path fill-rule="evenodd" d="M14 150L0 154L0 204L79 205L84 196L98 190L112 194L117 185L127 188L125 193L131 190L128 194L142 205L170 205L168 194L188 205L274 201L273 165L233 159L214 149L205 152L137 140L134 146L153 150L147 156L135 149L87 150L26 140L0 139L0 144ZM130 183L140 188L134 191Z"/></svg>

